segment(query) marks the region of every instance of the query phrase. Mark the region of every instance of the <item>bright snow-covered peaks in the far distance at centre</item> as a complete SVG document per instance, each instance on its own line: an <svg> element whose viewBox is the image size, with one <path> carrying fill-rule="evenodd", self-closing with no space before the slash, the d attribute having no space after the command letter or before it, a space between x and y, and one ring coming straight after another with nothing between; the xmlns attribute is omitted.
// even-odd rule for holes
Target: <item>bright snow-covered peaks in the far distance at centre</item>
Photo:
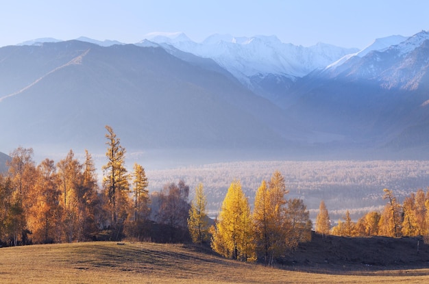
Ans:
<svg viewBox="0 0 429 284"><path fill-rule="evenodd" d="M183 33L148 34L145 39L215 60L242 82L254 75L277 74L291 79L303 77L358 49L319 43L302 47L281 42L276 36L234 37L215 34L201 43Z"/></svg>

